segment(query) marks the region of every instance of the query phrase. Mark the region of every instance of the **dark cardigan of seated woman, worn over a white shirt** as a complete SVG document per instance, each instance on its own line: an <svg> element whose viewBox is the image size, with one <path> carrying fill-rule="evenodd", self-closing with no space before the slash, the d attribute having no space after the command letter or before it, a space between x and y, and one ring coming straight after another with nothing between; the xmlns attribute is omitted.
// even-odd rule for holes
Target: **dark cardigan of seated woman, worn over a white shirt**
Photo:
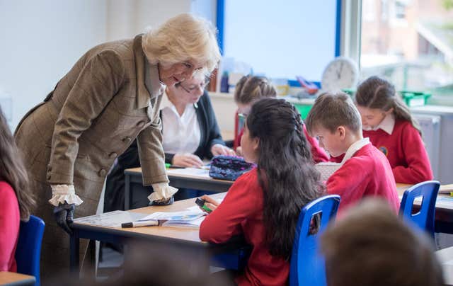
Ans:
<svg viewBox="0 0 453 286"><path fill-rule="evenodd" d="M207 91L203 93L195 105L195 113L197 113L197 122L200 125L201 136L200 144L194 154L199 156L200 159L211 159L212 145L224 145L225 142L222 139L222 135L220 135L219 125L217 125L217 119L215 118L214 109L212 108ZM162 129L164 128L165 126L163 125ZM165 162L171 163L174 155L166 153ZM108 173L105 182L104 212L124 210L125 169L137 168L139 166L137 140L134 140L130 147L117 158L117 163L110 170L110 173Z"/></svg>

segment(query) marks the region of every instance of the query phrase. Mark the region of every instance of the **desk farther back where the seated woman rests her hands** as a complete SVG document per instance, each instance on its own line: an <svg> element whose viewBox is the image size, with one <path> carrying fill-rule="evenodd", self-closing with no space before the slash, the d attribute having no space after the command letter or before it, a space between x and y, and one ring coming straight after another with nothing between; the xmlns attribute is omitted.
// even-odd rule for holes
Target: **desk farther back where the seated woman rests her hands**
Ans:
<svg viewBox="0 0 453 286"><path fill-rule="evenodd" d="M226 192L234 183L206 178L205 176L172 175L171 173L168 173L168 180L170 180L170 185L175 188L211 190L218 193ZM130 210L134 188L143 188L142 168L127 168L125 170L125 210Z"/></svg>

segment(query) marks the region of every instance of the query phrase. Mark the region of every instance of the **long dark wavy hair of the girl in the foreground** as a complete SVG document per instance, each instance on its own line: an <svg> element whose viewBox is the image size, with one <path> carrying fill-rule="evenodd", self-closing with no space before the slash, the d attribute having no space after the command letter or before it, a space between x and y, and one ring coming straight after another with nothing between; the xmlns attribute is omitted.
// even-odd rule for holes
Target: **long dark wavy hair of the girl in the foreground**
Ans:
<svg viewBox="0 0 453 286"><path fill-rule="evenodd" d="M258 178L269 251L289 259L300 210L324 190L302 119L291 103L263 98L253 104L246 126L250 136L259 139Z"/></svg>

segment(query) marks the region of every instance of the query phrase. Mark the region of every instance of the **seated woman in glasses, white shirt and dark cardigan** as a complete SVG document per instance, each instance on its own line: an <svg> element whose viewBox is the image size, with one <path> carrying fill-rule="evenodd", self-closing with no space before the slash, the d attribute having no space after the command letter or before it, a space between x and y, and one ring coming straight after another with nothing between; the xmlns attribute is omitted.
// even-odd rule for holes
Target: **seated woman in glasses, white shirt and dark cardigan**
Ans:
<svg viewBox="0 0 453 286"><path fill-rule="evenodd" d="M194 76L174 86L167 86L162 98L162 145L165 162L183 167L200 167L202 159L235 152L225 146L219 132L210 97L205 91L205 76ZM125 169L140 166L137 142L117 159L107 176L104 212L124 210ZM147 205L149 189L138 188L132 208ZM137 190L138 191L138 190ZM188 190L179 190L175 199L188 198ZM193 193L193 192L192 192Z"/></svg>

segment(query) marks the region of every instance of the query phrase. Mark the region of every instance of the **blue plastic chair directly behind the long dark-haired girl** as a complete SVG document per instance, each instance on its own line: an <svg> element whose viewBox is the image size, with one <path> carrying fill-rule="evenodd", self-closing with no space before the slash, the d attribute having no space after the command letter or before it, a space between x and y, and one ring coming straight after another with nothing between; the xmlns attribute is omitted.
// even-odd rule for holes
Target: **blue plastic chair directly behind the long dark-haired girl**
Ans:
<svg viewBox="0 0 453 286"><path fill-rule="evenodd" d="M326 285L326 269L318 240L328 222L336 217L338 205L339 195L326 195L302 208L292 245L289 285ZM310 234L311 219L316 214L321 214L320 228L316 234Z"/></svg>

